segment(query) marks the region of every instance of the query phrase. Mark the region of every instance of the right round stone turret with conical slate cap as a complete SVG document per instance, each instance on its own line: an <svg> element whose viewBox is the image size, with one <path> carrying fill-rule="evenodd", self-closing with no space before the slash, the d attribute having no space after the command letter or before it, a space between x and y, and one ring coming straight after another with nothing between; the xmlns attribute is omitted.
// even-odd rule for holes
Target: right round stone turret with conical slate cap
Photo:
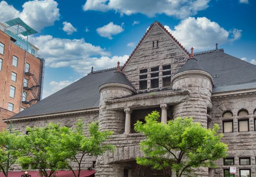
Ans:
<svg viewBox="0 0 256 177"><path fill-rule="evenodd" d="M187 90L189 100L174 106L174 117L193 117L207 127L207 110L211 109L212 76L195 58L190 58L172 77L173 90Z"/></svg>

